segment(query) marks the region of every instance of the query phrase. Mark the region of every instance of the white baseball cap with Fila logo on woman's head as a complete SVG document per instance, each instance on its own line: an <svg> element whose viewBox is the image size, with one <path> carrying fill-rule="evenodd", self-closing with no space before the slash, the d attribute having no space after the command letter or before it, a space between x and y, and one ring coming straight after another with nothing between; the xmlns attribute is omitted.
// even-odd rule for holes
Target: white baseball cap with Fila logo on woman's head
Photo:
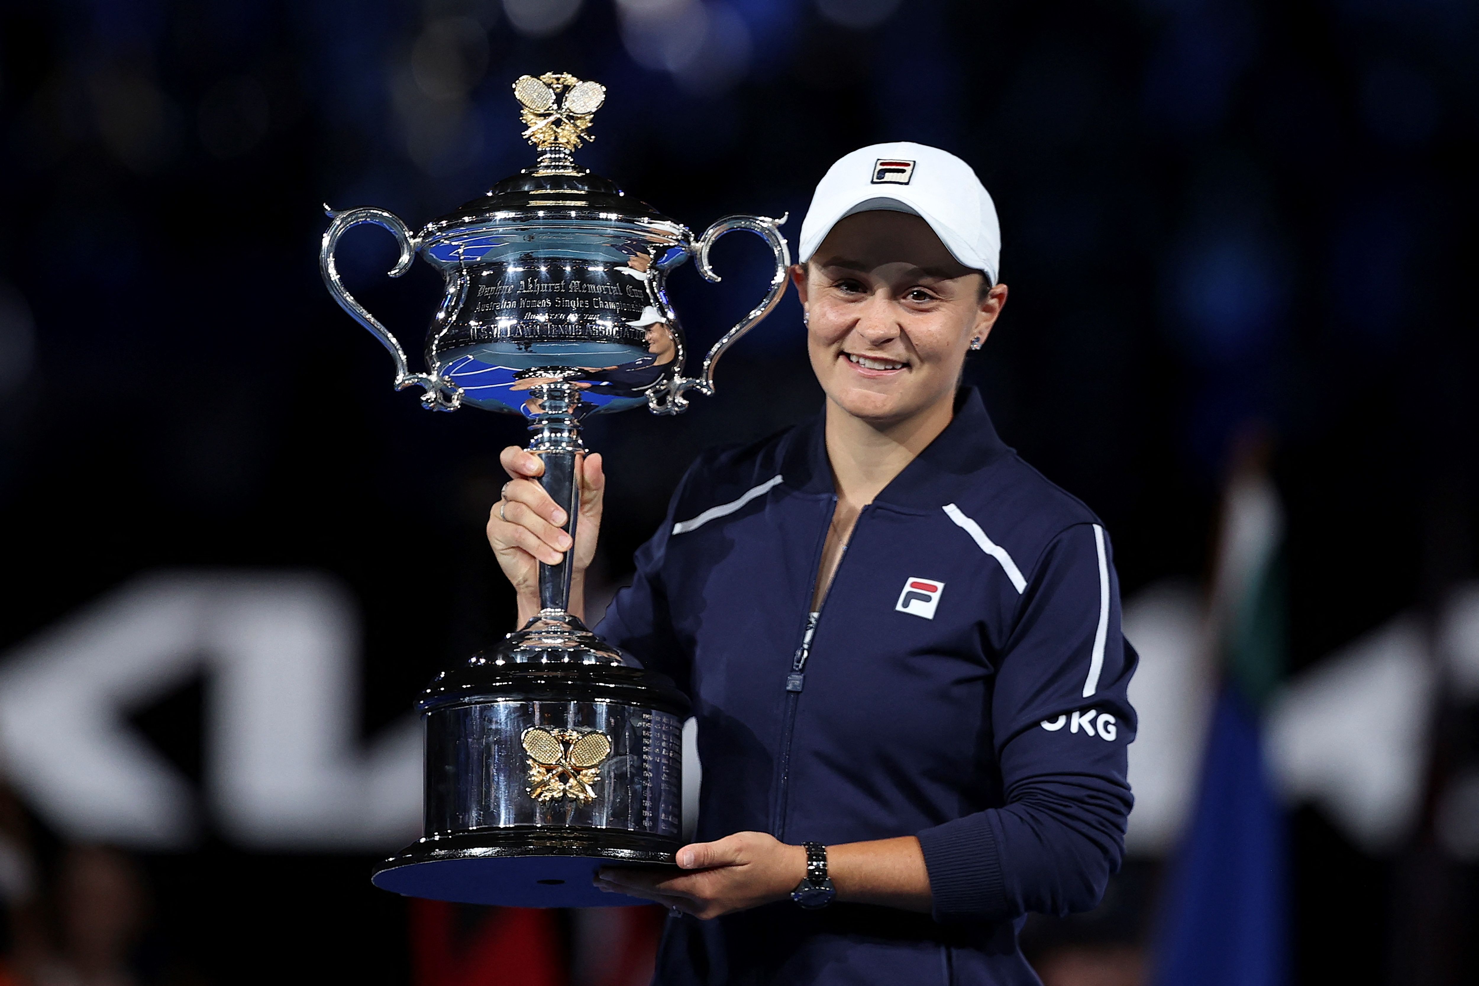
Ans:
<svg viewBox="0 0 1479 986"><path fill-rule="evenodd" d="M839 222L874 210L918 216L950 256L997 282L1001 228L985 185L954 154L908 140L858 148L827 170L802 220L800 262Z"/></svg>

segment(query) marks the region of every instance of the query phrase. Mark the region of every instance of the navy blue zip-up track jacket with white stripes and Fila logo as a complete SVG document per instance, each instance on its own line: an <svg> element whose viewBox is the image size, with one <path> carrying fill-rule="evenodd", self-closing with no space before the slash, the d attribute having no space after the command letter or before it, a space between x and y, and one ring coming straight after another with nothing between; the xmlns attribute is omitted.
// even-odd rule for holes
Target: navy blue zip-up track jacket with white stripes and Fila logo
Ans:
<svg viewBox="0 0 1479 986"><path fill-rule="evenodd" d="M917 835L933 914L670 919L657 982L1037 983L1022 915L1099 902L1131 804L1109 538L963 390L862 509L809 631L836 500L819 415L705 452L600 633L694 698L700 841Z"/></svg>

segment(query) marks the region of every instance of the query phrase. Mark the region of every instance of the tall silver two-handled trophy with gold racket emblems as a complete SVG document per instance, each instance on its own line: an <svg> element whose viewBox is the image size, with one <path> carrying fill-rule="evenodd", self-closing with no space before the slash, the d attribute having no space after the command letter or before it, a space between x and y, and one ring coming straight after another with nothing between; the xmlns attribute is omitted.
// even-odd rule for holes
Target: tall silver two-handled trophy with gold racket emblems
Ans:
<svg viewBox="0 0 1479 986"><path fill-rule="evenodd" d="M432 411L478 407L522 414L541 483L578 516L577 457L587 414L646 407L677 414L686 393L714 392L714 367L771 313L791 256L763 216L726 216L689 229L574 164L606 90L566 74L513 83L532 169L494 185L413 234L383 208L328 210L319 269L334 300L390 350L396 389L423 387ZM399 276L417 254L447 293L426 336L426 371L349 291L334 248L351 228L390 231ZM771 244L765 299L714 343L697 377L667 300L667 273L747 229ZM596 891L602 865L671 863L680 846L682 723L688 698L566 611L571 568L540 565L540 613L497 647L439 674L419 708L426 730L426 829L374 872L374 884L417 897L513 906L642 903Z"/></svg>

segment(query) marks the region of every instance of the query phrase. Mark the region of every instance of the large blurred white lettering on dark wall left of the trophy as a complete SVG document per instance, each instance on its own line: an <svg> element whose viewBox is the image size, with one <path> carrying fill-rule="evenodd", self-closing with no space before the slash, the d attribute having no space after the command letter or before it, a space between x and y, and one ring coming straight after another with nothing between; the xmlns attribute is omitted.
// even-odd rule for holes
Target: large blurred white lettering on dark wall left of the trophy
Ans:
<svg viewBox="0 0 1479 986"><path fill-rule="evenodd" d="M204 673L217 831L253 849L396 849L420 832L420 729L359 749L356 649L353 606L325 577L135 579L6 656L4 770L70 838L186 847L197 794L127 714Z"/></svg>

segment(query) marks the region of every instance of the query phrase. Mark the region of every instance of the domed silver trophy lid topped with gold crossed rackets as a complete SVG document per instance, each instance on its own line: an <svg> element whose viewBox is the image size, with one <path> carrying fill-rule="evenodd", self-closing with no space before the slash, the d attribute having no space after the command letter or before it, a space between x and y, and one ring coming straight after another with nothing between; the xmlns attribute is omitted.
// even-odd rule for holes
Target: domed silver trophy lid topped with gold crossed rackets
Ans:
<svg viewBox="0 0 1479 986"><path fill-rule="evenodd" d="M522 106L524 139L538 148L538 161L433 219L422 232L423 238L444 238L469 226L538 219L657 223L671 232L683 231L646 203L629 197L611 179L574 163L574 151L593 139L590 121L606 99L605 86L568 72L547 72L519 77L513 83L513 96Z"/></svg>

